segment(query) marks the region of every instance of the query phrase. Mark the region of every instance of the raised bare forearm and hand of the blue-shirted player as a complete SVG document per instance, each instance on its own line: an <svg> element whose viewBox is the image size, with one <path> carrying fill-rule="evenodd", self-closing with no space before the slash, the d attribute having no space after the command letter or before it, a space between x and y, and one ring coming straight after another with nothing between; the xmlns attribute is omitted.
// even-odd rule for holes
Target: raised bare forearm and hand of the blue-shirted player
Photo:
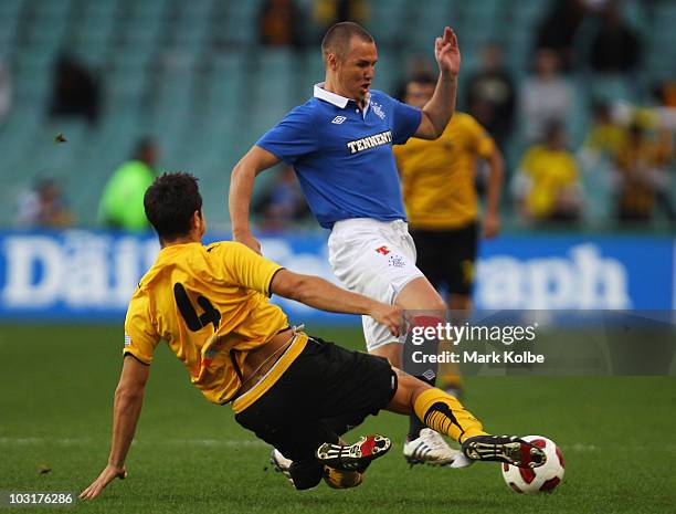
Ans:
<svg viewBox="0 0 676 514"><path fill-rule="evenodd" d="M444 29L442 38L436 38L434 57L439 64L439 81L432 98L422 109L420 126L415 132L415 137L422 139L440 137L455 111L461 54L457 38L450 27Z"/></svg>

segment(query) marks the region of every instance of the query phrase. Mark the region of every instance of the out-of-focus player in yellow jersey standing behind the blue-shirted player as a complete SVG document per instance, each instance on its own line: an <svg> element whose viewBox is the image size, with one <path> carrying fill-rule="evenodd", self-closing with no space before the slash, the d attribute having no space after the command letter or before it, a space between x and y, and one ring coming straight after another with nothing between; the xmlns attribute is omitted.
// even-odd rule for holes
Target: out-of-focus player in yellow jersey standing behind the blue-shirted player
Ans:
<svg viewBox="0 0 676 514"><path fill-rule="evenodd" d="M405 87L404 102L424 105L434 92L432 75L413 76ZM401 175L403 199L411 235L415 241L415 264L437 290L446 290L446 304L456 323L472 308L474 262L478 244L478 199L475 168L488 162L484 237L500 228L498 204L504 165L493 138L471 115L454 113L436 140L409 139L394 147ZM441 386L460 392L455 365L440 369Z"/></svg>

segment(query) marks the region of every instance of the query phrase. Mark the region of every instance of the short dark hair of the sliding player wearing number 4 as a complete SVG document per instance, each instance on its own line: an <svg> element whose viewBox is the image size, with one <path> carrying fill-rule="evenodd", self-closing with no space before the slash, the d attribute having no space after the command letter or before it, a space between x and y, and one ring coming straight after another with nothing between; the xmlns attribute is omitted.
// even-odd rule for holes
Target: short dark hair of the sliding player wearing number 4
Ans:
<svg viewBox="0 0 676 514"><path fill-rule="evenodd" d="M171 240L190 232L192 214L202 209L197 182L190 174L163 174L146 190L146 217L160 239Z"/></svg>

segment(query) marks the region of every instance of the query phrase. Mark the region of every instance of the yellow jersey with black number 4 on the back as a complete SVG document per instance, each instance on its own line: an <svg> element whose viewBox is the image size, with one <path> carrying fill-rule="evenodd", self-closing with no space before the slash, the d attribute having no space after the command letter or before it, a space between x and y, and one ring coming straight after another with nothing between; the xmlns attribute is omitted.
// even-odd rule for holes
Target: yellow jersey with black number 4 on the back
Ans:
<svg viewBox="0 0 676 514"><path fill-rule="evenodd" d="M150 364L163 339L209 401L230 401L247 352L288 326L267 298L281 269L236 242L163 248L129 303L124 353Z"/></svg>

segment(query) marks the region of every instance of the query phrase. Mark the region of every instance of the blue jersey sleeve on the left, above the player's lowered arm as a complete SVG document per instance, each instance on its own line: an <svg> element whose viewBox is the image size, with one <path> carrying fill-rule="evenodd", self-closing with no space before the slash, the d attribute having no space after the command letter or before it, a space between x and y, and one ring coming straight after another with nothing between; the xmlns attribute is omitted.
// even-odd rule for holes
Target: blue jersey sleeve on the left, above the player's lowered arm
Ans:
<svg viewBox="0 0 676 514"><path fill-rule="evenodd" d="M256 141L256 146L274 154L288 165L318 147L311 111L299 106Z"/></svg>

